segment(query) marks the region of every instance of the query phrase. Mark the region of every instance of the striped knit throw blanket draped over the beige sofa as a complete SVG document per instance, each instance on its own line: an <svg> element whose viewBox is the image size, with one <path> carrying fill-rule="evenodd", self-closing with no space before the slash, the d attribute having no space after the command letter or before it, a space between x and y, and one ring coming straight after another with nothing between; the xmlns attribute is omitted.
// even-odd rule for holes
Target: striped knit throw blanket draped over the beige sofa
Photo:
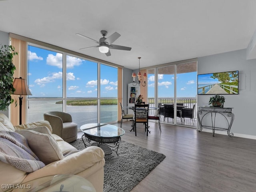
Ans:
<svg viewBox="0 0 256 192"><path fill-rule="evenodd" d="M0 131L0 161L29 173L45 166L29 148L24 136L9 131Z"/></svg>

